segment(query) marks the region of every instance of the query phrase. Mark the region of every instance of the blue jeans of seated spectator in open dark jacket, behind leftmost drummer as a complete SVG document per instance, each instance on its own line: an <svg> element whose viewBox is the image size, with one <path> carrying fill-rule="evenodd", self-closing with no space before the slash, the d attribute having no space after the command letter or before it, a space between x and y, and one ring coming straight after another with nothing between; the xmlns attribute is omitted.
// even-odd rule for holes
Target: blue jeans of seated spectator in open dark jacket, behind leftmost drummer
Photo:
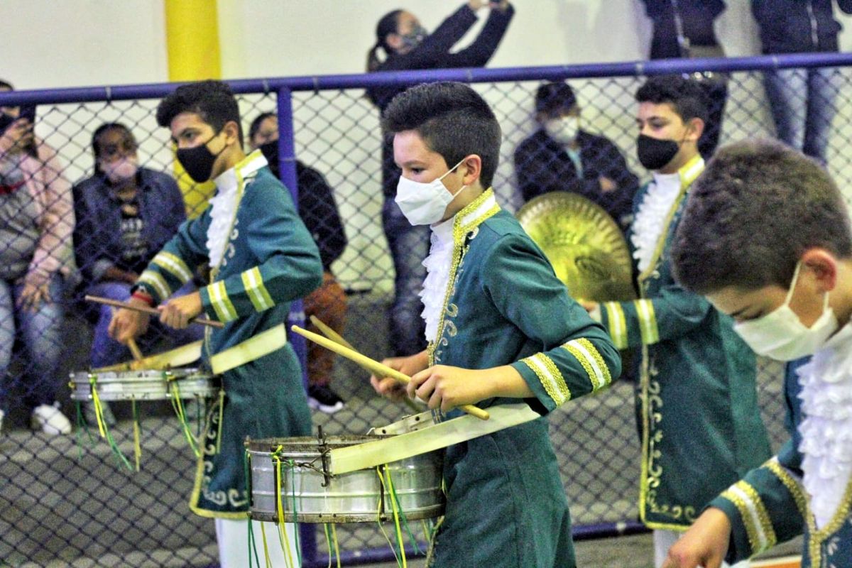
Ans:
<svg viewBox="0 0 852 568"><path fill-rule="evenodd" d="M172 297L186 295L195 291L192 283L184 284ZM86 290L88 295L100 295L110 300L127 301L130 298L130 284L124 282L104 281L92 284ZM109 336L109 323L112 320L112 307L101 305L99 307L98 323L95 324L95 339L92 341L91 365L92 367L106 367L107 365L128 361L131 358L130 349ZM151 325L147 333L139 338L139 348L145 354L150 354L151 348L161 336L170 336L178 345L198 341L204 337L204 328L200 325L190 325L186 330L173 330L166 328L152 316Z"/></svg>

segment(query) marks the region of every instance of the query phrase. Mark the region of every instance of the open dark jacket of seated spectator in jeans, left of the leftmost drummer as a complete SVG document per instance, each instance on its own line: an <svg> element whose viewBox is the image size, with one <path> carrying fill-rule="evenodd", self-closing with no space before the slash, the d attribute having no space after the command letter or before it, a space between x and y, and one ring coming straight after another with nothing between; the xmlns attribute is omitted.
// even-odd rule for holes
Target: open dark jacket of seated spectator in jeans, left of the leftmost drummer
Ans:
<svg viewBox="0 0 852 568"><path fill-rule="evenodd" d="M142 237L150 261L186 220L181 190L170 175L140 168L136 174ZM73 188L77 227L74 253L86 284L103 278L104 271L121 258L121 204L112 194L106 176L96 174Z"/></svg>

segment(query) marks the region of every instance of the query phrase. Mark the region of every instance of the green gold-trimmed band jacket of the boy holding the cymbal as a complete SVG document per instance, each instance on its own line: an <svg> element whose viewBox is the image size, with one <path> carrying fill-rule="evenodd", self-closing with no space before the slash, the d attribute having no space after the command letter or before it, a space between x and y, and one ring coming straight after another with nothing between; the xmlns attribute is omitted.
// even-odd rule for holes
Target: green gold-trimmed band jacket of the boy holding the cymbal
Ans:
<svg viewBox="0 0 852 568"><path fill-rule="evenodd" d="M669 249L689 185L704 169L680 170L640 299L604 302L602 323L619 349L641 347L636 414L642 441L639 513L653 529L686 531L710 500L770 455L757 405L754 353L732 320L671 274ZM636 193L642 204L650 184Z"/></svg>

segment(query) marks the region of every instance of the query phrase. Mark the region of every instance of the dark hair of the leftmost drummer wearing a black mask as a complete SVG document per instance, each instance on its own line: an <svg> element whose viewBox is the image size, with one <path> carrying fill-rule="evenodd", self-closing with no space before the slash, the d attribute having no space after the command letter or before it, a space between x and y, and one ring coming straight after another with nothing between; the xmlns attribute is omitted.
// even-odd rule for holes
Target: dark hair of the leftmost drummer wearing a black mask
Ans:
<svg viewBox="0 0 852 568"><path fill-rule="evenodd" d="M243 144L243 126L239 123L239 105L233 91L222 81L200 81L181 85L157 107L157 123L169 128L181 112L195 112L218 133L225 123L237 123L239 145Z"/></svg>

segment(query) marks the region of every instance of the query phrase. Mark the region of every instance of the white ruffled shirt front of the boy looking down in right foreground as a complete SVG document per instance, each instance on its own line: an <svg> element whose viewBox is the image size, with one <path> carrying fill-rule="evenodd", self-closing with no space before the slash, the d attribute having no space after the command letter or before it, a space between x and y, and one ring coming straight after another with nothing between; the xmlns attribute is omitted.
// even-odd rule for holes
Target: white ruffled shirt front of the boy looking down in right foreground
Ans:
<svg viewBox="0 0 852 568"><path fill-rule="evenodd" d="M852 323L798 370L803 484L817 529L828 525L852 479Z"/></svg>

